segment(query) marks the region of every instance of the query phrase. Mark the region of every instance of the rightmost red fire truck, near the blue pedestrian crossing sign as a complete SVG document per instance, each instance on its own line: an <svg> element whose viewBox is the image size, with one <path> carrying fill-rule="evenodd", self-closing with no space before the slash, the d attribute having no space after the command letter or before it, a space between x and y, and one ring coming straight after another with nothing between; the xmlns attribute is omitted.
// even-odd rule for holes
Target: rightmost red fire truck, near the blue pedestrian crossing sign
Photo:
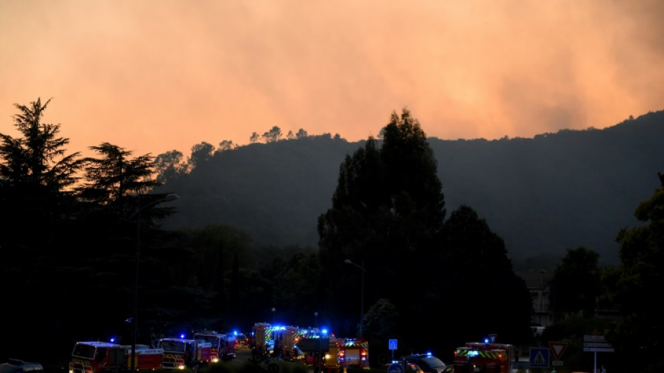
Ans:
<svg viewBox="0 0 664 373"><path fill-rule="evenodd" d="M509 373L514 354L511 344L468 342L454 352L454 373Z"/></svg>

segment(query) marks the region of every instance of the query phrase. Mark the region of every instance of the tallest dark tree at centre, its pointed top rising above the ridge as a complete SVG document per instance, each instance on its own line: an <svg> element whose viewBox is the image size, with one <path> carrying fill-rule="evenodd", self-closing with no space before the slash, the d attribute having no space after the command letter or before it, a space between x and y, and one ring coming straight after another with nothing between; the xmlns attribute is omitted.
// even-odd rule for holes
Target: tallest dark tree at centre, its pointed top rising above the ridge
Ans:
<svg viewBox="0 0 664 373"><path fill-rule="evenodd" d="M361 276L364 311L385 298L407 320L413 305L424 309L427 300L395 291L395 283L432 295L427 286L440 265L445 198L426 135L407 109L392 113L382 134L380 148L370 138L347 155L332 207L319 217L322 289L329 307L345 316L336 326L346 333L359 321L349 289L361 291Z"/></svg>

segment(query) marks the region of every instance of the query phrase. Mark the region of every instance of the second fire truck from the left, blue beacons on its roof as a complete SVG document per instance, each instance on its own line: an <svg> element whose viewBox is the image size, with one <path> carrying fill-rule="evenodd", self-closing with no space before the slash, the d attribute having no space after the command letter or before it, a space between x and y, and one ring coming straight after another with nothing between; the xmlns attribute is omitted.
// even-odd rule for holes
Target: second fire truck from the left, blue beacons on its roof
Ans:
<svg viewBox="0 0 664 373"><path fill-rule="evenodd" d="M212 344L202 340L161 338L158 347L164 350L164 369L193 368L211 362Z"/></svg>

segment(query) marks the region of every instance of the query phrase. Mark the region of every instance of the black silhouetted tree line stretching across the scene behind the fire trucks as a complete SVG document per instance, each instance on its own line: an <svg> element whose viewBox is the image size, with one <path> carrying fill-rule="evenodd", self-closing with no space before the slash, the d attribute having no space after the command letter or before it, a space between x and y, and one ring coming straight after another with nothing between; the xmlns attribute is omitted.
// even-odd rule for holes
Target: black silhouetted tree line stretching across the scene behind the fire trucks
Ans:
<svg viewBox="0 0 664 373"><path fill-rule="evenodd" d="M460 343L489 333L500 342L545 345L546 337L578 348L582 335L597 330L616 353L642 357L630 371L661 364L652 358L652 331L662 321L643 294L661 288L664 181L637 208L644 225L619 232L620 267L599 269L586 248L568 252L553 283L558 323L534 341L531 299L503 239L471 206L447 216L437 161L405 109L392 113L382 139L368 139L340 164L312 251L257 246L250 234L220 225L162 229L176 211L161 203L168 193L157 192L157 169L171 162L171 171L182 171L181 155L160 163L110 143L90 147L97 157L68 154L59 125L42 122L49 103L17 104L22 137L0 134L0 281L5 330L15 336L1 342L2 358L55 368L66 365L75 340L127 344L140 249L141 343L194 328L248 332L272 318L354 336L361 322L376 364L391 338L402 352L431 349L449 361ZM212 148L202 143L192 157L204 160ZM621 321L599 321L598 307L619 309ZM54 348L25 349L36 336Z"/></svg>

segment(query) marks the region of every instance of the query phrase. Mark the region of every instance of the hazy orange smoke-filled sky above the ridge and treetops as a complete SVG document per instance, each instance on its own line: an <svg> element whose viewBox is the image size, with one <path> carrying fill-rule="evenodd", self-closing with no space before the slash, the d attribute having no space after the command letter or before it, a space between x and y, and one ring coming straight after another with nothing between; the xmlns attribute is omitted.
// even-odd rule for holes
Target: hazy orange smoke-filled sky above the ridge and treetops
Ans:
<svg viewBox="0 0 664 373"><path fill-rule="evenodd" d="M69 153L283 134L532 137L664 109L661 0L3 0L0 133L52 98Z"/></svg>

